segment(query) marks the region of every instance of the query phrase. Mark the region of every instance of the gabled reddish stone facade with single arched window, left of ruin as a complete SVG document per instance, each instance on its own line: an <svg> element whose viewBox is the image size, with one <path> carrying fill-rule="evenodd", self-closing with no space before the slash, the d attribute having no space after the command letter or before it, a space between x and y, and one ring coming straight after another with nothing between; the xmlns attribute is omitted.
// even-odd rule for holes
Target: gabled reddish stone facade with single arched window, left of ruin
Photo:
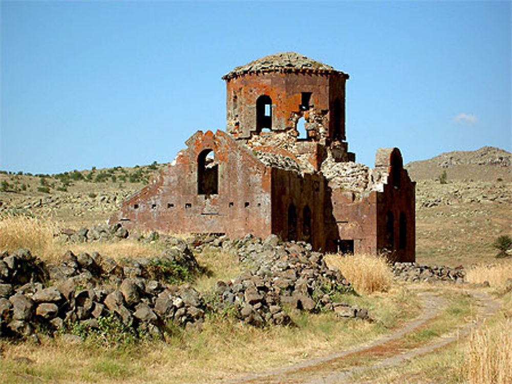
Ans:
<svg viewBox="0 0 512 384"><path fill-rule="evenodd" d="M186 144L152 184L123 202L111 222L177 233L268 236L271 168L222 131L199 131ZM197 160L207 149L219 167L218 194L198 194Z"/></svg>

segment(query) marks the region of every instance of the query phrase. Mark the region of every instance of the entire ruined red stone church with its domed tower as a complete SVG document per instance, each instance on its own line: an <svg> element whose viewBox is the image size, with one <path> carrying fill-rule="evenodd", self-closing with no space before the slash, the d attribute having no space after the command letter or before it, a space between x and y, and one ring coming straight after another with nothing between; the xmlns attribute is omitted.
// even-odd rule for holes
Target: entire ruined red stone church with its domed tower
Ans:
<svg viewBox="0 0 512 384"><path fill-rule="evenodd" d="M181 233L279 235L326 252L415 259L415 183L398 148L375 168L345 136L349 75L296 53L236 67L226 131L197 131L111 223Z"/></svg>

